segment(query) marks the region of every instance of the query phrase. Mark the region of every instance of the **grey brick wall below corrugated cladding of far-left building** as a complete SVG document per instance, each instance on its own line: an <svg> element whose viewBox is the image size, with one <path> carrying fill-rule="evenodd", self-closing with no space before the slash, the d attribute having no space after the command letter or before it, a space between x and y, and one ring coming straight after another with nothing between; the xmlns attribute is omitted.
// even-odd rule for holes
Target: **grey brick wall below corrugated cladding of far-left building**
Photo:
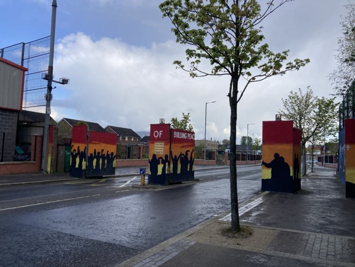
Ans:
<svg viewBox="0 0 355 267"><path fill-rule="evenodd" d="M0 162L14 160L17 123L18 111L0 109Z"/></svg>

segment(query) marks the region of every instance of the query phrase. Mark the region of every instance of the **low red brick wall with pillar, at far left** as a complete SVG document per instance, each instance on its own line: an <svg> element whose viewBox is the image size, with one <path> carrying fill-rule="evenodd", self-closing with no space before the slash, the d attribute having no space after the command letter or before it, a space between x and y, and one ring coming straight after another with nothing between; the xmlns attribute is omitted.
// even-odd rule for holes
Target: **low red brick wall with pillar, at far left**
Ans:
<svg viewBox="0 0 355 267"><path fill-rule="evenodd" d="M40 172L41 154L42 154L42 135L32 135L31 161L0 162L0 175Z"/></svg>

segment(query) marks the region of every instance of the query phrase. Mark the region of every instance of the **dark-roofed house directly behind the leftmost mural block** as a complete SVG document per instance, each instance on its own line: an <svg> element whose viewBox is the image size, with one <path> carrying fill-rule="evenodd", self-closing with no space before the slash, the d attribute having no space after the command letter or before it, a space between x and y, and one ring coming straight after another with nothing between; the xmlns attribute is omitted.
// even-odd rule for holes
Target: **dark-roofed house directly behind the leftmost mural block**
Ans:
<svg viewBox="0 0 355 267"><path fill-rule="evenodd" d="M73 125L79 125L83 123L88 125L89 131L106 132L105 129L96 122L62 118L58 122L58 144L70 144Z"/></svg>

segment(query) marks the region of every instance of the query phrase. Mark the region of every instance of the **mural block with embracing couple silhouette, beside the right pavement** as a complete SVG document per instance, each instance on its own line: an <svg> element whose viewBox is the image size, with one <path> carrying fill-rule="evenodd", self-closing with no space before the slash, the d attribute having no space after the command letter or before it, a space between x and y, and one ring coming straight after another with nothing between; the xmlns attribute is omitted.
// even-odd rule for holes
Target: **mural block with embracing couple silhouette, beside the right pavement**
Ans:
<svg viewBox="0 0 355 267"><path fill-rule="evenodd" d="M263 122L262 191L295 190L294 172L299 172L296 143L293 121Z"/></svg>

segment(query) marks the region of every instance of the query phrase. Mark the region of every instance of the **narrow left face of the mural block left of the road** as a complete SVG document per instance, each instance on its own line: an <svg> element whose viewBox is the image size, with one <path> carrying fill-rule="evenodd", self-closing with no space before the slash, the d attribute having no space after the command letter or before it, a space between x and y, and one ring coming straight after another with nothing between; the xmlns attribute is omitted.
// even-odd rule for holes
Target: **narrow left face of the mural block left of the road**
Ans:
<svg viewBox="0 0 355 267"><path fill-rule="evenodd" d="M87 125L74 125L71 132L70 176L85 177L87 151Z"/></svg>

